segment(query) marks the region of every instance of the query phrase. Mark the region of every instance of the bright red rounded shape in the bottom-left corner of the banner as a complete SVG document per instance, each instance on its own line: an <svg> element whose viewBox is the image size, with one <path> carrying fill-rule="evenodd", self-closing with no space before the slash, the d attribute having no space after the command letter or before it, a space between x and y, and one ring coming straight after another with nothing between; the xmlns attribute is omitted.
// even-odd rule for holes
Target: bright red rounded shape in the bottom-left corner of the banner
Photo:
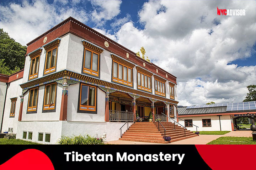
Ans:
<svg viewBox="0 0 256 170"><path fill-rule="evenodd" d="M54 170L54 167L51 160L43 152L37 149L26 149L0 165L0 169Z"/></svg>

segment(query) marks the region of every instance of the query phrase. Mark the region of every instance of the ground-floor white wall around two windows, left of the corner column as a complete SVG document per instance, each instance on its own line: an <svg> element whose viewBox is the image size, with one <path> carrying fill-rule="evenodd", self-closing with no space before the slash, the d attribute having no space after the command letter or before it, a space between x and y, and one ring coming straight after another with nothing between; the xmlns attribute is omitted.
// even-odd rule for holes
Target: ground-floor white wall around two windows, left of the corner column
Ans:
<svg viewBox="0 0 256 170"><path fill-rule="evenodd" d="M37 103L37 113L27 114L27 105L28 105L28 95L29 91L27 91L24 95L23 101L23 113L22 113L22 121L58 121L60 114L60 105L62 98L62 85L57 83L57 94L56 94L56 112L47 112L42 113L43 109L43 100L44 100L44 88L45 86L39 86L38 91L38 103Z"/></svg>

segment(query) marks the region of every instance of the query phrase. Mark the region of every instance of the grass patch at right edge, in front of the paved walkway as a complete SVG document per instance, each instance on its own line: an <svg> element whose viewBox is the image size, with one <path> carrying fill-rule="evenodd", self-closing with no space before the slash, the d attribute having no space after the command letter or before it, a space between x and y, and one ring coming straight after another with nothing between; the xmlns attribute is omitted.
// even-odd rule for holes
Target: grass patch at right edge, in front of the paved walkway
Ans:
<svg viewBox="0 0 256 170"><path fill-rule="evenodd" d="M219 137L206 145L256 145L252 137Z"/></svg>

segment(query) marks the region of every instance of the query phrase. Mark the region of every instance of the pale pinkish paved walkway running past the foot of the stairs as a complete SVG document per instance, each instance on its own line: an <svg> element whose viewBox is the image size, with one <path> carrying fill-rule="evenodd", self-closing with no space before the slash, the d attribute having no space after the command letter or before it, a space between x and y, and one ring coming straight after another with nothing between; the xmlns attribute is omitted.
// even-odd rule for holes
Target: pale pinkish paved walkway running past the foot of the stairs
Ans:
<svg viewBox="0 0 256 170"><path fill-rule="evenodd" d="M231 131L225 135L199 135L177 142L168 143L166 145L205 145L222 136L234 137L252 137L252 131ZM148 142L134 142L134 141L110 141L108 144L114 145L161 145L161 143L148 143ZM164 144L165 145L165 144Z"/></svg>

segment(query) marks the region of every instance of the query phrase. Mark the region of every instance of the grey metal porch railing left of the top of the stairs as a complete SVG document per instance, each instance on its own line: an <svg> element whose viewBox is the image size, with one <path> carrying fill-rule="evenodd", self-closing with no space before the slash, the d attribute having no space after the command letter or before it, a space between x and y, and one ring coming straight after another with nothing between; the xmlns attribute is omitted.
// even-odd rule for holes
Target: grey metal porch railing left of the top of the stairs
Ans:
<svg viewBox="0 0 256 170"><path fill-rule="evenodd" d="M133 115L133 112L124 112L124 111L109 111L109 120L110 121L127 121L133 122L129 118Z"/></svg>

